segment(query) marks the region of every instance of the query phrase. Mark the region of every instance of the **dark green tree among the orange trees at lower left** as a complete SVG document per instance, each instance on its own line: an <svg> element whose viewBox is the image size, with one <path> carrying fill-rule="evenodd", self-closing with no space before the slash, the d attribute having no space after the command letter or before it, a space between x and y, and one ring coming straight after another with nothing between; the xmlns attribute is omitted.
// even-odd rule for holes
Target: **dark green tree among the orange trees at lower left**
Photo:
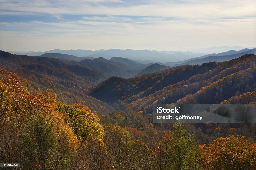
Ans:
<svg viewBox="0 0 256 170"><path fill-rule="evenodd" d="M27 157L25 167L48 169L49 152L56 141L53 125L44 116L31 116L22 127L21 138Z"/></svg>

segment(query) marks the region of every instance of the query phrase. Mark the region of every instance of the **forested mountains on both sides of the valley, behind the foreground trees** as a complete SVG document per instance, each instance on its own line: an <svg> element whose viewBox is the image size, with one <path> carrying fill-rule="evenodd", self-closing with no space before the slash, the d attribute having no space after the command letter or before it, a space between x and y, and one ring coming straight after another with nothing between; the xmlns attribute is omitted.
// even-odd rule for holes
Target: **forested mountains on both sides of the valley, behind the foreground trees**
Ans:
<svg viewBox="0 0 256 170"><path fill-rule="evenodd" d="M122 57L78 62L70 61L70 55L46 54L52 57L48 58L0 51L0 68L27 79L25 86L30 91L53 88L67 103L82 99L93 101L101 111L106 103L119 109L151 111L154 102L234 102L232 97L252 93L256 56L248 53L255 53L255 48L204 55L169 68ZM213 60L217 62L209 62Z"/></svg>

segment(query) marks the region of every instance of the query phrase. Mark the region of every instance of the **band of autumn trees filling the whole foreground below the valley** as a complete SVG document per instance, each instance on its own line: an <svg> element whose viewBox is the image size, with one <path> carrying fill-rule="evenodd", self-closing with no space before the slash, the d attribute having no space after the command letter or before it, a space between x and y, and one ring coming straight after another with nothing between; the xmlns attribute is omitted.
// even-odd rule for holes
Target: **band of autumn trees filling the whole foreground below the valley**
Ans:
<svg viewBox="0 0 256 170"><path fill-rule="evenodd" d="M16 77L0 71L0 161L20 162L18 169L256 168L256 145L239 127L206 123L208 136L190 124L154 127L131 110L99 117L57 102L51 90L31 94ZM241 128L255 133L253 124Z"/></svg>

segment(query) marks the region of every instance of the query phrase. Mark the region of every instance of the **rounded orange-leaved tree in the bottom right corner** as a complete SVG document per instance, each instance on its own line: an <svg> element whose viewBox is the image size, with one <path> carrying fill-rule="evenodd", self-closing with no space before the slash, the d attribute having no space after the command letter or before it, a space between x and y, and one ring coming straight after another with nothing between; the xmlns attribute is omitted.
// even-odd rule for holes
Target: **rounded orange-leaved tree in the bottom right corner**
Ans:
<svg viewBox="0 0 256 170"><path fill-rule="evenodd" d="M211 144L198 145L205 169L255 169L256 147L244 136L228 135Z"/></svg>

